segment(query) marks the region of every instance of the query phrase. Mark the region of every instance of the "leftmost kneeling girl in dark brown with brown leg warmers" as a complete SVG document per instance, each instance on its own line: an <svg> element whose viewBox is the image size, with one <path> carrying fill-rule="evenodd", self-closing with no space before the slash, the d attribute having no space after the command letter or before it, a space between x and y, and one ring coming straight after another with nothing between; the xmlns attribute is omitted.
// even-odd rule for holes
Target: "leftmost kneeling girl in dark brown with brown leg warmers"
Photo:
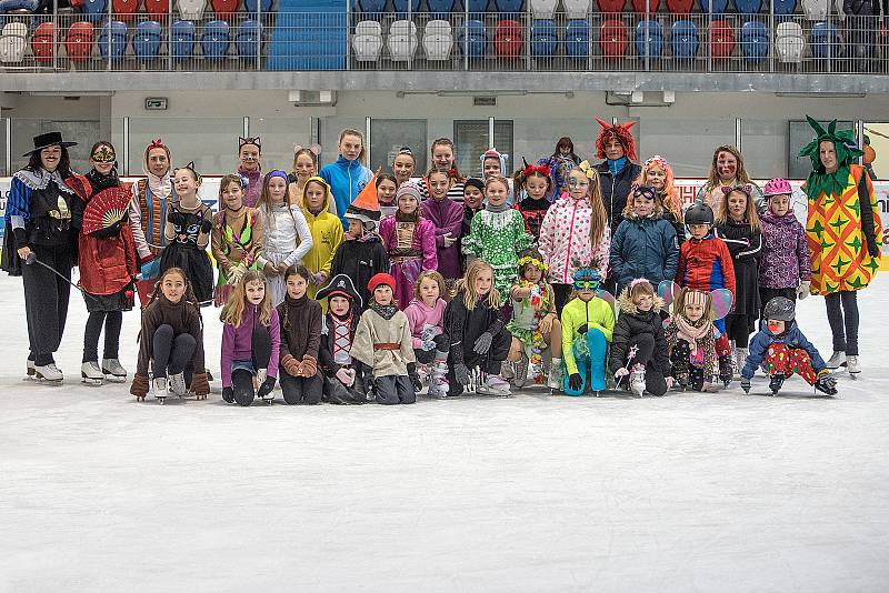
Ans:
<svg viewBox="0 0 889 593"><path fill-rule="evenodd" d="M189 390L198 400L210 393L203 366L203 325L191 282L180 268L166 270L142 310L139 362L130 393L144 401L148 368L154 375L153 394L161 403L168 388L178 398ZM168 381L169 378L169 381Z"/></svg>

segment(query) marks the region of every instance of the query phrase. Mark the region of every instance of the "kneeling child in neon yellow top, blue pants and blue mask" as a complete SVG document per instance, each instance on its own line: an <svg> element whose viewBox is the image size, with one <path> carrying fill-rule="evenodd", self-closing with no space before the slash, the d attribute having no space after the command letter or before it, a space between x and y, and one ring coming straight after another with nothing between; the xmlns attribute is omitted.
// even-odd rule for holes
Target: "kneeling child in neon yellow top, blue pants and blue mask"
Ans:
<svg viewBox="0 0 889 593"><path fill-rule="evenodd" d="M575 272L575 291L562 309L562 352L568 376L565 393L582 395L589 386L605 391L605 356L615 330L615 310L599 299L596 291L602 282L598 270L581 268Z"/></svg>

